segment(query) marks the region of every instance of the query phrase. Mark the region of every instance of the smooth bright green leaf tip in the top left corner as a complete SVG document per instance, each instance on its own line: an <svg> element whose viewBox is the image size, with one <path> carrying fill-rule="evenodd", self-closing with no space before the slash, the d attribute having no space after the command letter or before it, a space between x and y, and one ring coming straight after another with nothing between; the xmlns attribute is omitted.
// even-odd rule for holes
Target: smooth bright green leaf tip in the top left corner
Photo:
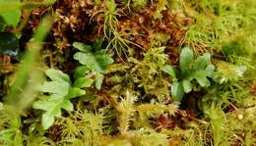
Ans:
<svg viewBox="0 0 256 146"><path fill-rule="evenodd" d="M16 26L19 24L22 15L21 6L22 3L20 0L0 0L0 16L7 25Z"/></svg>

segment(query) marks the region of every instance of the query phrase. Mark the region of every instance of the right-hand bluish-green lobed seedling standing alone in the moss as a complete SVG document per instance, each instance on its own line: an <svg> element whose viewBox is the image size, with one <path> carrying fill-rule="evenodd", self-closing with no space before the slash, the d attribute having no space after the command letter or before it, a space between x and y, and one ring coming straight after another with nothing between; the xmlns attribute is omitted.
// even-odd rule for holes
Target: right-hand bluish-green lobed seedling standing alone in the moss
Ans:
<svg viewBox="0 0 256 146"><path fill-rule="evenodd" d="M209 53L195 59L193 51L185 47L180 54L178 69L169 65L165 65L161 69L172 77L171 95L175 101L180 101L184 93L192 91L193 80L203 87L211 85L208 77L213 77L215 67L211 64L210 59Z"/></svg>

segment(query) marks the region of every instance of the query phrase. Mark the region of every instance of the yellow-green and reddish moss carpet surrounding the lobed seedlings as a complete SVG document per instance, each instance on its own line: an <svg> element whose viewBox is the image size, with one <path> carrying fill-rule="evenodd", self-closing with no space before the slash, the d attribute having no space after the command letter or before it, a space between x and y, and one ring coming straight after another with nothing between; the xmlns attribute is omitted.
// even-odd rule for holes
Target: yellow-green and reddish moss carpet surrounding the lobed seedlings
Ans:
<svg viewBox="0 0 256 146"><path fill-rule="evenodd" d="M256 145L255 0L57 0L35 6L23 7L20 23L6 28L19 35L19 55L0 54L0 145ZM32 33L45 17L51 28L41 41ZM74 110L62 110L43 129L42 111L32 104L48 94L33 85L45 80L48 68L75 81L80 64L72 44L96 51L101 38L114 63L102 73L100 89L84 88L86 95L71 100ZM193 91L175 101L172 77L161 69L178 68L184 47L196 56L210 53L215 75L209 87L192 80Z"/></svg>

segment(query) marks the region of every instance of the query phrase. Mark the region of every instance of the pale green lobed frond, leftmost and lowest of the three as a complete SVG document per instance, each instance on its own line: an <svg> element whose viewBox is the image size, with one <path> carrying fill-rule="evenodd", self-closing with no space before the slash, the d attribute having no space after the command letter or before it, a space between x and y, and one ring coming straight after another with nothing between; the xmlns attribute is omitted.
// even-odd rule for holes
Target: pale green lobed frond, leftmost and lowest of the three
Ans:
<svg viewBox="0 0 256 146"><path fill-rule="evenodd" d="M80 81L77 81L78 87L72 87L68 74L62 73L54 69L49 69L45 72L51 79L44 81L39 86L39 91L48 93L49 95L41 97L32 104L33 109L44 111L42 115L42 126L44 129L49 128L56 117L61 116L61 110L73 111L73 104L70 99L86 94L86 91L80 89L80 86L85 86ZM92 80L86 80L87 84L93 83Z"/></svg>

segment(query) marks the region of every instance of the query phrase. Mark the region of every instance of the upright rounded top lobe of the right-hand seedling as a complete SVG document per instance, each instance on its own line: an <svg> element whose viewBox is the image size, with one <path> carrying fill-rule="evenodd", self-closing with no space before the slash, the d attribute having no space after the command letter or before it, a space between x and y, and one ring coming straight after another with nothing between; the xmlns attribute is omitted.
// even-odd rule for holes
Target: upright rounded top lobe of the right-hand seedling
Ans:
<svg viewBox="0 0 256 146"><path fill-rule="evenodd" d="M190 68L191 63L194 61L194 53L188 47L182 49L180 53L179 66L182 74Z"/></svg>

